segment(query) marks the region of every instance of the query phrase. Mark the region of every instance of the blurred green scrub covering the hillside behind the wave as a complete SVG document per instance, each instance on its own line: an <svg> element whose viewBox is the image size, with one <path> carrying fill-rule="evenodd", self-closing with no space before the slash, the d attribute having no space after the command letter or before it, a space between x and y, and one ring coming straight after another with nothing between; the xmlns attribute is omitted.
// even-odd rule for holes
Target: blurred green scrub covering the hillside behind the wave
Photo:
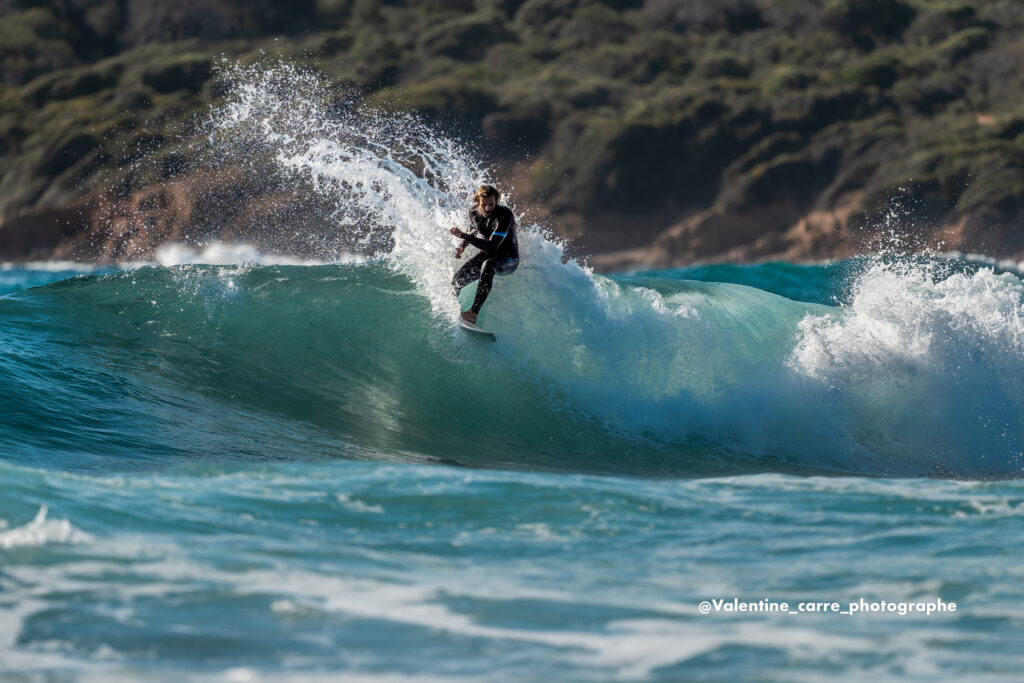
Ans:
<svg viewBox="0 0 1024 683"><path fill-rule="evenodd" d="M1024 215L1012 0L139 4L5 5L0 215L183 172L221 54L302 62L369 105L436 117L486 141L499 173L528 160L518 199L566 225L853 194L861 222L896 195L922 223Z"/></svg>

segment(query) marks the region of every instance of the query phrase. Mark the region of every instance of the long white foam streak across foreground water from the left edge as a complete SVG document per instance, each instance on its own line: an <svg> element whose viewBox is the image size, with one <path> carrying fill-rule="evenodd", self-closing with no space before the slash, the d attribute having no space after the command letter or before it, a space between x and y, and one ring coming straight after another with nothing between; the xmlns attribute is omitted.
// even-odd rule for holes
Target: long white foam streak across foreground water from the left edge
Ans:
<svg viewBox="0 0 1024 683"><path fill-rule="evenodd" d="M144 544L147 551L152 552L155 542L153 539L145 539L139 543ZM453 636L511 644L544 645L553 648L553 657L628 679L643 678L654 668L683 661L717 647L742 643L753 635L738 632L731 635L709 635L697 623L678 621L677 617L684 614L690 618L699 618L692 605L666 605L667 609L663 610L657 605L644 605L637 600L615 601L600 596L584 597L571 592L534 589L515 581L498 581L494 575L482 571L473 575L471 570L459 570L446 577L418 575L415 583L410 583L409 580L413 579L411 577L391 582L327 575L285 567L230 571L184 558L144 561L138 559L144 555L138 548L123 542L103 543L100 549L111 557L110 560L82 561L70 565L9 567L8 574L15 580L11 584L12 595L25 609L16 615L8 614L12 621L5 618L0 620L0 623L8 622L12 626L22 624L31 614L46 609L51 596L92 591L97 580L106 582L112 574L125 574L128 571L144 578L144 581L119 583L117 600L122 605L153 598L173 600L178 593L195 595L198 587L213 590L213 586L219 586L216 590L238 595L287 596L276 598L269 604L273 613L285 617L314 617L317 613L338 612L349 617L382 620ZM180 550L173 546L163 550L169 557L180 555ZM115 559L118 556L123 557ZM129 561L133 568L124 564L125 561ZM593 605L652 609L666 614L666 617L610 622L607 632L598 633L529 630L477 622L472 615L445 604L453 597L481 600L499 597L502 600L552 600L566 603L584 601ZM14 628L12 634L16 630ZM785 642L785 639L780 636L779 642ZM793 643L794 647L802 646L800 638ZM39 667L56 661L50 657L41 658L38 652L23 652L14 647L13 640L6 643L6 646L10 648L11 655L22 657L17 661L18 669L23 671L38 670ZM846 647L854 650L868 649L856 640L850 640ZM109 649L108 647L106 650ZM117 656L117 652L112 651L104 658L110 660ZM73 664L73 659L61 661L65 666ZM116 673L116 670L103 671ZM274 680L272 676L256 670L231 671L243 678L255 676L253 680L264 680L263 676L269 676L268 680Z"/></svg>

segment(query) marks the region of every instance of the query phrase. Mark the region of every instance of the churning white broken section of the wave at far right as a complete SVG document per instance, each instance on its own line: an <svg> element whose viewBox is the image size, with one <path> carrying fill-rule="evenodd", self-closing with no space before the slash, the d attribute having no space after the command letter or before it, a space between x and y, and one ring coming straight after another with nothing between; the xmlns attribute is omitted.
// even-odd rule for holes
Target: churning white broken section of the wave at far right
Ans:
<svg viewBox="0 0 1024 683"><path fill-rule="evenodd" d="M880 467L1019 477L1022 301L1009 272L876 263L849 305L801 322L788 365Z"/></svg>

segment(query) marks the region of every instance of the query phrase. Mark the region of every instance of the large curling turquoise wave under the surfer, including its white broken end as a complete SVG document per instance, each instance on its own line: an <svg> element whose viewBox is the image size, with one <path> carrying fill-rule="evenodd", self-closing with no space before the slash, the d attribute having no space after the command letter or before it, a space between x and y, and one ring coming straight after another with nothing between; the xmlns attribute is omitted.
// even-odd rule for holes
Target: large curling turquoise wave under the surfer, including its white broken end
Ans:
<svg viewBox="0 0 1024 683"><path fill-rule="evenodd" d="M1013 272L804 266L810 301L797 301L686 271L603 278L528 243L484 308L496 344L387 259L153 266L9 292L7 457L1019 476ZM792 287L784 269L734 273ZM845 302L814 302L841 287Z"/></svg>

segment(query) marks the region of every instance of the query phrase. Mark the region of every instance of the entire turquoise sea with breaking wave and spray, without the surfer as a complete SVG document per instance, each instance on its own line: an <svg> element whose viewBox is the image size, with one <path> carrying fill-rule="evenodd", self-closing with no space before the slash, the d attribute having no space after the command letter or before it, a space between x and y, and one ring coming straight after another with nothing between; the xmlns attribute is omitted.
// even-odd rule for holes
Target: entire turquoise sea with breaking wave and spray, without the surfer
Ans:
<svg viewBox="0 0 1024 683"><path fill-rule="evenodd" d="M1016 677L1020 264L600 275L527 218L481 343L480 155L223 69L205 163L335 238L0 268L0 680Z"/></svg>

